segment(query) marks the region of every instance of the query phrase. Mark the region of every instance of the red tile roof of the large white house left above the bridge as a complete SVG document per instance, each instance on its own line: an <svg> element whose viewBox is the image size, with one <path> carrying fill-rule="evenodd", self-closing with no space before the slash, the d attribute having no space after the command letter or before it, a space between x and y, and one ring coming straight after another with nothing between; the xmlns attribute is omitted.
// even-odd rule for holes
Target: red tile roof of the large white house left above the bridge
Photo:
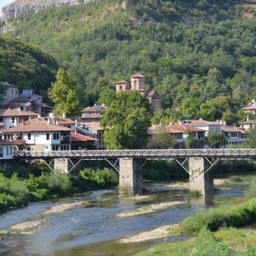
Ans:
<svg viewBox="0 0 256 256"><path fill-rule="evenodd" d="M44 133L44 132L69 132L72 129L67 127L52 124L45 121L42 117L33 120L26 121L23 125L19 123L16 127L8 128L2 131L2 133Z"/></svg>

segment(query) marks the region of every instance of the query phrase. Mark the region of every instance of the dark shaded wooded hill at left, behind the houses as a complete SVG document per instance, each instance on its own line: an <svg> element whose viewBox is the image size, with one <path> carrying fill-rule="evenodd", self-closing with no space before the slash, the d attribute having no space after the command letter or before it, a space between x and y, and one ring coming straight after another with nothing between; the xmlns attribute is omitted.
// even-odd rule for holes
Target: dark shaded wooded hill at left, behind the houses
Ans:
<svg viewBox="0 0 256 256"><path fill-rule="evenodd" d="M47 98L58 69L57 60L38 47L15 37L0 37L0 80L15 84L20 92L32 89Z"/></svg>

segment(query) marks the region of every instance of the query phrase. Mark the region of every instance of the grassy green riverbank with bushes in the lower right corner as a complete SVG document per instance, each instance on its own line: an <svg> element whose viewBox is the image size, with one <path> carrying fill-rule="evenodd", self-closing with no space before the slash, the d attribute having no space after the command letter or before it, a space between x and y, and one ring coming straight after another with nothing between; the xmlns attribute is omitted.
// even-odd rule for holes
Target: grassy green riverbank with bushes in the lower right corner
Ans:
<svg viewBox="0 0 256 256"><path fill-rule="evenodd" d="M256 255L256 231L237 229L255 223L255 213L256 177L252 176L245 197L240 201L225 199L219 206L199 211L194 216L165 229L168 235L196 235L195 238L165 243L136 255Z"/></svg>

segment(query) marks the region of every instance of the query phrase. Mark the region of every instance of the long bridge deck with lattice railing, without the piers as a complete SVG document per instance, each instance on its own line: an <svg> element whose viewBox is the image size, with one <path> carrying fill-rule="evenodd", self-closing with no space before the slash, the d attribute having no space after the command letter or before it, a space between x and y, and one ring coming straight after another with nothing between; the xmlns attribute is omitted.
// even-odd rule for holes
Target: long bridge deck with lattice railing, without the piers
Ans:
<svg viewBox="0 0 256 256"><path fill-rule="evenodd" d="M240 149L136 149L136 150L70 150L70 151L16 151L15 159L106 158L176 159L187 157L214 157L219 159L256 159L256 148Z"/></svg>

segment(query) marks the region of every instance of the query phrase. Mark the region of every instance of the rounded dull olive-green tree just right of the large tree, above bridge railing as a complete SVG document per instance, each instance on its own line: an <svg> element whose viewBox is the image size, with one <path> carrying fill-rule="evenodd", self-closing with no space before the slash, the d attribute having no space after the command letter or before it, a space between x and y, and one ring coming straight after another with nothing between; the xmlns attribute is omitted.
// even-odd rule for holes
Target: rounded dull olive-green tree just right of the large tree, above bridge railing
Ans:
<svg viewBox="0 0 256 256"><path fill-rule="evenodd" d="M148 140L147 148L174 148L176 145L176 139L172 136L172 133L166 129L166 126L158 126L155 129L155 133Z"/></svg>

